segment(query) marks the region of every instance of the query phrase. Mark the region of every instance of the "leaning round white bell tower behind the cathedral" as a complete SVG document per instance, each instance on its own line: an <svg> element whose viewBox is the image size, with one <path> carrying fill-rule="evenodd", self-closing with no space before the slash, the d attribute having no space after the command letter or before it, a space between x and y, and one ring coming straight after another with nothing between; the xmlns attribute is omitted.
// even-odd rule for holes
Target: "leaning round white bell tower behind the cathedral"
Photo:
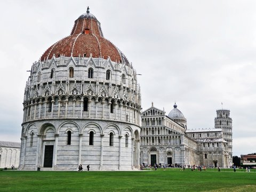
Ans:
<svg viewBox="0 0 256 192"><path fill-rule="evenodd" d="M230 110L218 109L215 117L215 129L222 129L223 139L228 142L229 165L232 165L232 118Z"/></svg>

